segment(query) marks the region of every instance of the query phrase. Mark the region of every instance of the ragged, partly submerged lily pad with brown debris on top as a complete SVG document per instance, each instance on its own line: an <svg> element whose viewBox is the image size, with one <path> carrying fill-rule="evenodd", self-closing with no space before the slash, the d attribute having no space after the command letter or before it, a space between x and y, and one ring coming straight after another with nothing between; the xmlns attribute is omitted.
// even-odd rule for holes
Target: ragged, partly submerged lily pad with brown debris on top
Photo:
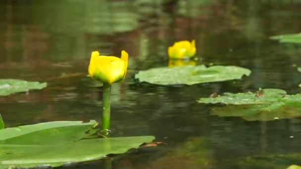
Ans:
<svg viewBox="0 0 301 169"><path fill-rule="evenodd" d="M301 117L301 94L288 95L281 89L263 89L255 93L225 93L215 98L200 98L199 103L222 104L211 114L242 117L247 121L271 121ZM226 105L226 106L225 106Z"/></svg>

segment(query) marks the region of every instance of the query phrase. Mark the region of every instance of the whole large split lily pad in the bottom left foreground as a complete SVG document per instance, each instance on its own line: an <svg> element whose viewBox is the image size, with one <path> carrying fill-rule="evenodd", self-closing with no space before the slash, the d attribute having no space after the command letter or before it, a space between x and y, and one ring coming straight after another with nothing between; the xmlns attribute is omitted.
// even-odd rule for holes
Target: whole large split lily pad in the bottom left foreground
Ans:
<svg viewBox="0 0 301 169"><path fill-rule="evenodd" d="M99 160L154 139L153 136L88 139L97 131L95 126L96 121L66 121L1 129L0 169L57 167Z"/></svg>

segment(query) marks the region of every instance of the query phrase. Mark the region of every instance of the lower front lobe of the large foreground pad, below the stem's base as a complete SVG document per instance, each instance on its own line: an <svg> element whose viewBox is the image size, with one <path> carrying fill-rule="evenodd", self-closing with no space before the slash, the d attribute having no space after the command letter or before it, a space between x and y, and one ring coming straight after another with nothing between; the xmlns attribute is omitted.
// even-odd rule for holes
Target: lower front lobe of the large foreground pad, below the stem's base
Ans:
<svg viewBox="0 0 301 169"><path fill-rule="evenodd" d="M151 142L153 136L86 139L59 145L0 144L0 169L9 166L32 168L57 167L69 163L94 161L108 154L125 153Z"/></svg>

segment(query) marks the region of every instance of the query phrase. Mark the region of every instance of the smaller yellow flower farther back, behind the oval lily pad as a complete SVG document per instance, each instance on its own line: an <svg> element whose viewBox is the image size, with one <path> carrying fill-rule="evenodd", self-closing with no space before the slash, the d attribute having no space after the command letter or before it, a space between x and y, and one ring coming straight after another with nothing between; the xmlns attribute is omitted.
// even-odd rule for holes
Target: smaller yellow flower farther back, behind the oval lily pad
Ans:
<svg viewBox="0 0 301 169"><path fill-rule="evenodd" d="M196 54L196 41L175 42L173 46L168 47L168 55L171 59L191 58Z"/></svg>

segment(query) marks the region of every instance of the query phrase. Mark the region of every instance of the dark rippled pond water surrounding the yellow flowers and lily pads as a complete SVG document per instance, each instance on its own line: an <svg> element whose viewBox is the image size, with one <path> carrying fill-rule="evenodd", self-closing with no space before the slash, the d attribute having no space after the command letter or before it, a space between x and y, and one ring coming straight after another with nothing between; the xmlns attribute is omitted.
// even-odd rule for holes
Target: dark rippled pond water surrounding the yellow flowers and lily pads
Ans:
<svg viewBox="0 0 301 169"><path fill-rule="evenodd" d="M254 155L301 151L301 119L248 122L210 115L196 100L213 92L281 88L298 93L301 48L271 35L301 31L300 0L1 0L0 78L47 82L41 91L0 97L6 126L100 120L102 88L87 77L90 53L130 54L122 83L112 88L113 136L154 135L167 145L133 150L112 169L247 169ZM197 43L197 64L251 69L241 81L156 86L135 73L167 66L174 41ZM61 76L62 74L69 76ZM291 137L294 136L294 137ZM250 169L284 169L290 159L256 161ZM249 165L249 166L248 166ZM102 169L102 161L73 166ZM249 169L248 168L248 169Z"/></svg>

